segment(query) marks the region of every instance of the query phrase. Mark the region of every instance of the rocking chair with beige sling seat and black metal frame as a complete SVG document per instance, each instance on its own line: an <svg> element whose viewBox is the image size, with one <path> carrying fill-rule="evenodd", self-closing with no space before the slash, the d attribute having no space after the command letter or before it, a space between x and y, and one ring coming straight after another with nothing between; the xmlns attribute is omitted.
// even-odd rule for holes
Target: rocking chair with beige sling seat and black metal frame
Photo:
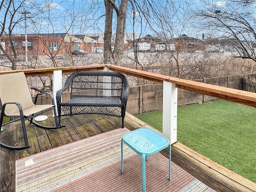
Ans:
<svg viewBox="0 0 256 192"><path fill-rule="evenodd" d="M47 105L36 105L38 95L48 94L52 98L52 104ZM54 98L50 93L39 93L36 95L35 102L33 103L31 94L26 81L24 72L3 74L0 75L0 100L2 104L1 116L0 116L0 128L6 124L10 124L17 120L21 120L22 130L24 134L25 146L10 146L0 141L0 146L9 150L23 150L30 148L28 144L28 136L26 132L25 120L29 120L30 124L34 124L44 129L58 129L57 115L54 104ZM39 116L47 111L54 111L55 127L47 127L38 124L33 121L33 118ZM14 118L10 122L3 123L4 116Z"/></svg>

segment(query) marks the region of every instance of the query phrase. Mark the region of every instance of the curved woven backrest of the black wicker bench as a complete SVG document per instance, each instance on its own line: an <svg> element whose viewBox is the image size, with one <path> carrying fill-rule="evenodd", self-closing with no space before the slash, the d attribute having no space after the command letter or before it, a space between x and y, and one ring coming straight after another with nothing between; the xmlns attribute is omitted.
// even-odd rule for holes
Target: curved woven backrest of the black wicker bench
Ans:
<svg viewBox="0 0 256 192"><path fill-rule="evenodd" d="M65 86L70 86L70 97L119 97L128 89L123 74L104 71L84 71L71 74Z"/></svg>

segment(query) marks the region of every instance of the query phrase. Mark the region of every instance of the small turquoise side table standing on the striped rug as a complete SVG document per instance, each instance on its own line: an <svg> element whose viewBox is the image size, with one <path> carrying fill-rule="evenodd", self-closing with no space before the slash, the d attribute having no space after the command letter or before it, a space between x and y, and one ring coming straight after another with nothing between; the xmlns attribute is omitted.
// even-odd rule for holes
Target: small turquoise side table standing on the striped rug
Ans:
<svg viewBox="0 0 256 192"><path fill-rule="evenodd" d="M171 180L171 145L169 140L149 128L139 128L123 135L121 139L121 172L123 173L123 142L142 156L142 192L146 192L146 160L168 146L169 180Z"/></svg>

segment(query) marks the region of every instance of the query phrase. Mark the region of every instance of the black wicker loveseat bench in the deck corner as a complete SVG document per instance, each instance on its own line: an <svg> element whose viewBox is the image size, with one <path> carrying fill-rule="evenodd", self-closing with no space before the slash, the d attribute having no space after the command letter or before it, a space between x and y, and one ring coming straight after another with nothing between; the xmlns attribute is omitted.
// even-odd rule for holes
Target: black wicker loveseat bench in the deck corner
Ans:
<svg viewBox="0 0 256 192"><path fill-rule="evenodd" d="M62 93L70 87L70 100L61 102ZM123 74L104 71L82 71L71 74L56 94L58 118L76 114L124 116L128 98L128 81Z"/></svg>

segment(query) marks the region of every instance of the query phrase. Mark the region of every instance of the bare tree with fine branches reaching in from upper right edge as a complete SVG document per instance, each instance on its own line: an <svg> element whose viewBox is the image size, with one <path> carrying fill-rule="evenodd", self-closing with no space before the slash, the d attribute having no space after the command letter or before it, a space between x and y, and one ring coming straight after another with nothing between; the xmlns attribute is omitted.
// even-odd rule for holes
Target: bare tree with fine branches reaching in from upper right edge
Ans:
<svg viewBox="0 0 256 192"><path fill-rule="evenodd" d="M226 46L236 50L235 58L248 58L256 62L256 23L254 0L225 0L212 2L201 0L194 12L196 27L208 30Z"/></svg>

